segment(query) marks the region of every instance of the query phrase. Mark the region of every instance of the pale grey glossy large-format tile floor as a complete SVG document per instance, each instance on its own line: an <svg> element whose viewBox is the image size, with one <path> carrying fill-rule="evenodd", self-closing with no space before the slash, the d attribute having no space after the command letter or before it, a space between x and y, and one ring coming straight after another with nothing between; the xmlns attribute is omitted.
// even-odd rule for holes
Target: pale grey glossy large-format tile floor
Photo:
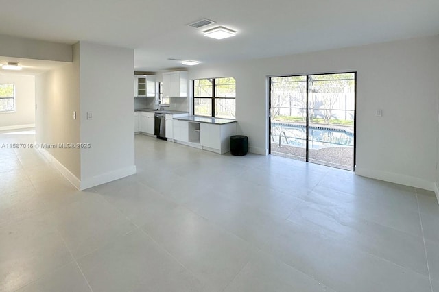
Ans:
<svg viewBox="0 0 439 292"><path fill-rule="evenodd" d="M137 175L82 192L38 151L0 148L0 291L439 291L434 193L135 143Z"/></svg>

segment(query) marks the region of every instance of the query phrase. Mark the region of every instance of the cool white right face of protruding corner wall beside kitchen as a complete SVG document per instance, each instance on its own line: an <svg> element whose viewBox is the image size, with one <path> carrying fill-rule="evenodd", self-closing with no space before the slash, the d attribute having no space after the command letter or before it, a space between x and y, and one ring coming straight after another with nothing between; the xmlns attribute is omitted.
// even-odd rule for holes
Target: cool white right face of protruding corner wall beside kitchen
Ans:
<svg viewBox="0 0 439 292"><path fill-rule="evenodd" d="M81 189L136 172L134 50L80 42ZM87 119L87 114L91 117Z"/></svg>

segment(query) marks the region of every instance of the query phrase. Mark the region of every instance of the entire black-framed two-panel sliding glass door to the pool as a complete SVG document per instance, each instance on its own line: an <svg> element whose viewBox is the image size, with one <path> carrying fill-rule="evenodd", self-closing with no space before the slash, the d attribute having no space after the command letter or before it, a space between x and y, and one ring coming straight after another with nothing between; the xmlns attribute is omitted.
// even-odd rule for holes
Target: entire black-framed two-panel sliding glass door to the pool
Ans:
<svg viewBox="0 0 439 292"><path fill-rule="evenodd" d="M269 151L353 171L355 72L270 77Z"/></svg>

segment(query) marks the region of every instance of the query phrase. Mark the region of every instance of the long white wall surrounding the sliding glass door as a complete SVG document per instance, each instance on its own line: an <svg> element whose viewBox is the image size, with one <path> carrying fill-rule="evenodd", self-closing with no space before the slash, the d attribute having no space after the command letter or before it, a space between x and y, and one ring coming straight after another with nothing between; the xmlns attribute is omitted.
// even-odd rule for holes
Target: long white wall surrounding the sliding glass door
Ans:
<svg viewBox="0 0 439 292"><path fill-rule="evenodd" d="M433 189L439 37L189 69L189 78L235 77L238 130L268 152L268 76L357 71L357 167L369 177ZM382 109L383 117L375 117Z"/></svg>

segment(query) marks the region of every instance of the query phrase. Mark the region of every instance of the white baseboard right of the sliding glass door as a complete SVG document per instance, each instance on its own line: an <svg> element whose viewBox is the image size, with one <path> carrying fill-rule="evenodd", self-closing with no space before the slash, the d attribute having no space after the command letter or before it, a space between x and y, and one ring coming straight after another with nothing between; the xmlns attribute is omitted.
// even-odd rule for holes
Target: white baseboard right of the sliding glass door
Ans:
<svg viewBox="0 0 439 292"><path fill-rule="evenodd" d="M375 178L377 180L384 180L386 182L393 182L395 184L403 184L404 186L412 186L414 188L422 188L428 191L435 191L435 184L424 180L422 178L414 178L408 175L401 175L399 173L391 173L387 171L377 171L375 169L366 169L364 167L355 167L355 174L365 176L366 178ZM436 196L438 194L436 193Z"/></svg>

